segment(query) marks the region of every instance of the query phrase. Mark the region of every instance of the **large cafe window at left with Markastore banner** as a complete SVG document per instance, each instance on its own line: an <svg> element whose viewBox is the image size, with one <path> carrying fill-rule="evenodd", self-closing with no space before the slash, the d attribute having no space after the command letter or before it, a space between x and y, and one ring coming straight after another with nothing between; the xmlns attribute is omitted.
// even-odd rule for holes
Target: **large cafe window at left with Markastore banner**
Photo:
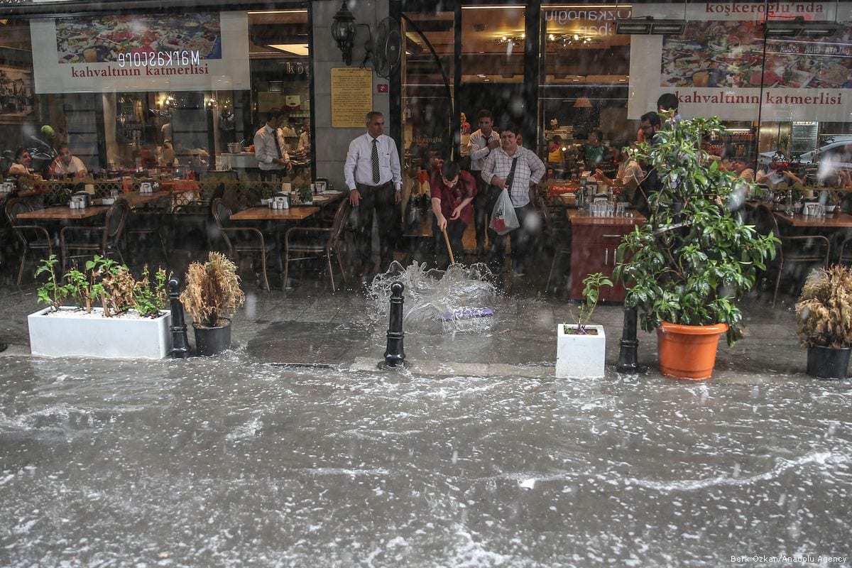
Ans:
<svg viewBox="0 0 852 568"><path fill-rule="evenodd" d="M3 171L19 146L47 173L60 144L90 172L247 166L255 130L285 110L296 175L310 178L308 10L62 15L4 20ZM223 46L229 49L223 49ZM240 172L243 174L244 172Z"/></svg>

